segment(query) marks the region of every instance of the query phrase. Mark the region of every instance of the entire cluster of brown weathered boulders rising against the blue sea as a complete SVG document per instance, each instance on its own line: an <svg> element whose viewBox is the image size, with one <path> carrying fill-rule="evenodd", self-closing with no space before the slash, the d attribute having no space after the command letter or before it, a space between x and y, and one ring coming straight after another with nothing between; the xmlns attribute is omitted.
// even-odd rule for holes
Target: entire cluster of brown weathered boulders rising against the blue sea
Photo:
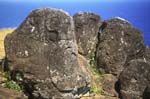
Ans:
<svg viewBox="0 0 150 99"><path fill-rule="evenodd" d="M5 51L11 79L29 99L78 99L92 88L99 96L87 99L150 97L150 49L119 17L36 9L7 35Z"/></svg>

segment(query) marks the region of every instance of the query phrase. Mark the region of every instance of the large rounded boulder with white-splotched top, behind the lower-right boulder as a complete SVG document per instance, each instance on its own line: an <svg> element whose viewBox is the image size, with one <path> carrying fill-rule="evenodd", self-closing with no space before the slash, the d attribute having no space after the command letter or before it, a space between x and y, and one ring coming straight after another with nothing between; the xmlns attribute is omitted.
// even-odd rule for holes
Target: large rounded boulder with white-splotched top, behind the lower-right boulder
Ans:
<svg viewBox="0 0 150 99"><path fill-rule="evenodd" d="M112 18L100 27L97 67L101 73L118 75L124 64L142 57L145 45L142 33L121 18Z"/></svg>

